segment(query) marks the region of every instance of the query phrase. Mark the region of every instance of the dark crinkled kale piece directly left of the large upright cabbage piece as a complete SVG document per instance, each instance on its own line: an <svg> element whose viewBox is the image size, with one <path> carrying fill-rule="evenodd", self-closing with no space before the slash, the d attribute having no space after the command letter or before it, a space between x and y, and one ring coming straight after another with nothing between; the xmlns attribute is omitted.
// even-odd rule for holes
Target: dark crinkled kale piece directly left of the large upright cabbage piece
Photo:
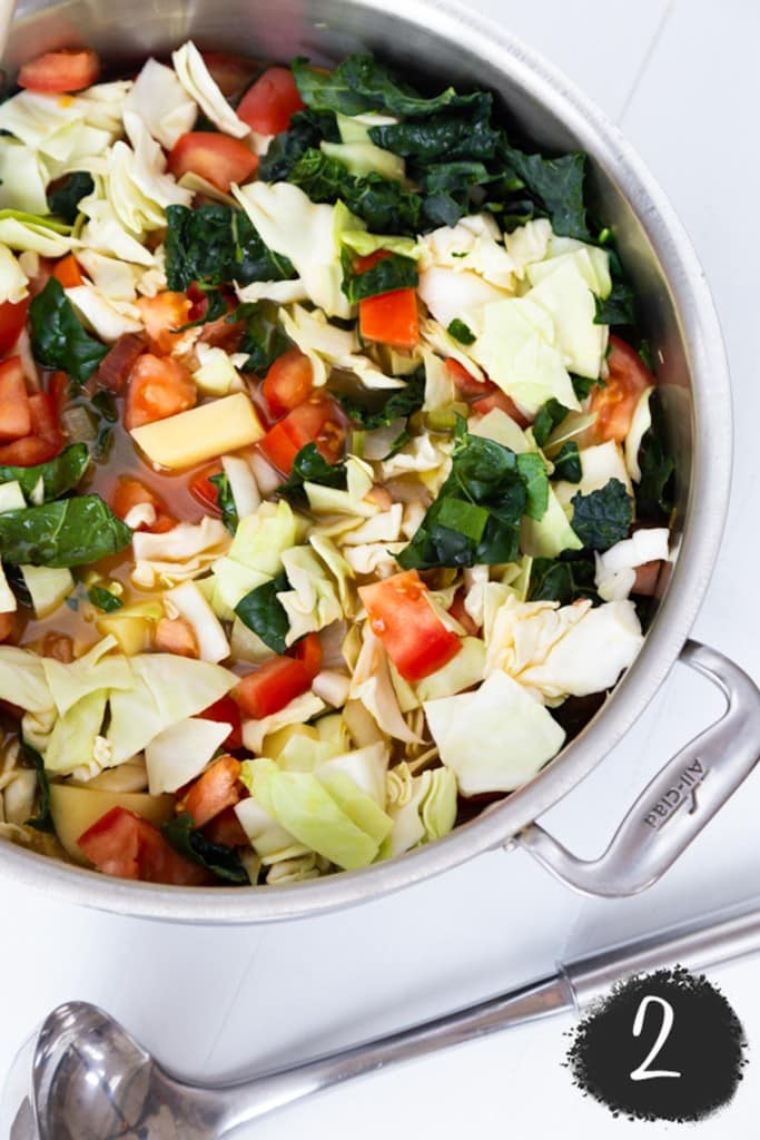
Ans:
<svg viewBox="0 0 760 1140"><path fill-rule="evenodd" d="M242 210L219 203L197 210L171 205L166 223L166 280L172 290L185 292L194 282L250 285L295 277L288 259L264 245Z"/></svg>

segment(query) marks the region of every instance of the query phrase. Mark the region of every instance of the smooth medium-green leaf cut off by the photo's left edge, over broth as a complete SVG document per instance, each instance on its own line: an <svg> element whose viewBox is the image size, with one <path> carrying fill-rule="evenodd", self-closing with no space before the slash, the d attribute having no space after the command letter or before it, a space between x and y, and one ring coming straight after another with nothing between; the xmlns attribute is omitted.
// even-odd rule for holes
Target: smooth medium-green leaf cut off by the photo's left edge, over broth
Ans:
<svg viewBox="0 0 760 1140"><path fill-rule="evenodd" d="M0 514L3 562L42 567L77 567L119 554L132 531L98 495L46 503Z"/></svg>

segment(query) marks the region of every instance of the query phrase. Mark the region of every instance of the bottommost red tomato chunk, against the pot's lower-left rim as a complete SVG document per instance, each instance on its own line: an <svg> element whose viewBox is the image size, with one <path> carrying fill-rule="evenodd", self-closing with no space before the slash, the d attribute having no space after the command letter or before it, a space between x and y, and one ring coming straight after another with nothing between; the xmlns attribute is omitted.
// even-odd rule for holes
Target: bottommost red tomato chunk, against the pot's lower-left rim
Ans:
<svg viewBox="0 0 760 1140"><path fill-rule="evenodd" d="M142 882L197 887L213 882L209 871L183 858L157 828L134 812L112 807L88 828L77 845L104 874Z"/></svg>

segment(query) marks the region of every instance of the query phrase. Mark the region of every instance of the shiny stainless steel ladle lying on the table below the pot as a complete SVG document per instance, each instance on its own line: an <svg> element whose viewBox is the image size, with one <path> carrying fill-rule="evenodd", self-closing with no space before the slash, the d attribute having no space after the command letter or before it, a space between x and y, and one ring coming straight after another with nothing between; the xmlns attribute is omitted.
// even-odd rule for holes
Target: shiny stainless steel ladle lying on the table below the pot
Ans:
<svg viewBox="0 0 760 1140"><path fill-rule="evenodd" d="M9 1140L222 1140L350 1077L579 1010L619 978L676 962L692 970L760 950L760 899L577 959L557 974L433 1021L237 1084L170 1076L103 1010L59 1005L19 1053L3 1094ZM2 1123L0 1122L0 1123Z"/></svg>

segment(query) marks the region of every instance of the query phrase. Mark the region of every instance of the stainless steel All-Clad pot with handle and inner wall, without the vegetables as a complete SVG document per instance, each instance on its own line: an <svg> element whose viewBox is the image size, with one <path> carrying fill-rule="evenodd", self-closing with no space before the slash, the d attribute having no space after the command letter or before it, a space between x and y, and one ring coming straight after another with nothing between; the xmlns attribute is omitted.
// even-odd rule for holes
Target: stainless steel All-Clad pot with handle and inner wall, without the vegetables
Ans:
<svg viewBox="0 0 760 1140"><path fill-rule="evenodd" d="M639 296L678 461L675 562L637 661L604 709L530 784L452 834L402 858L287 887L212 890L109 879L2 845L17 881L101 910L170 921L253 923L317 914L399 890L482 852L521 844L571 886L607 896L654 882L759 758L760 693L719 653L687 642L710 580L726 515L730 393L720 329L694 251L670 204L621 133L571 83L502 28L426 0L22 0L7 67L49 48L96 47L116 66L202 46L334 62L375 51L415 81L476 83L539 145L587 150L598 212L615 227ZM434 64L434 66L432 66ZM627 813L605 855L574 858L533 821L594 768L681 659L727 698L727 712L669 760Z"/></svg>

